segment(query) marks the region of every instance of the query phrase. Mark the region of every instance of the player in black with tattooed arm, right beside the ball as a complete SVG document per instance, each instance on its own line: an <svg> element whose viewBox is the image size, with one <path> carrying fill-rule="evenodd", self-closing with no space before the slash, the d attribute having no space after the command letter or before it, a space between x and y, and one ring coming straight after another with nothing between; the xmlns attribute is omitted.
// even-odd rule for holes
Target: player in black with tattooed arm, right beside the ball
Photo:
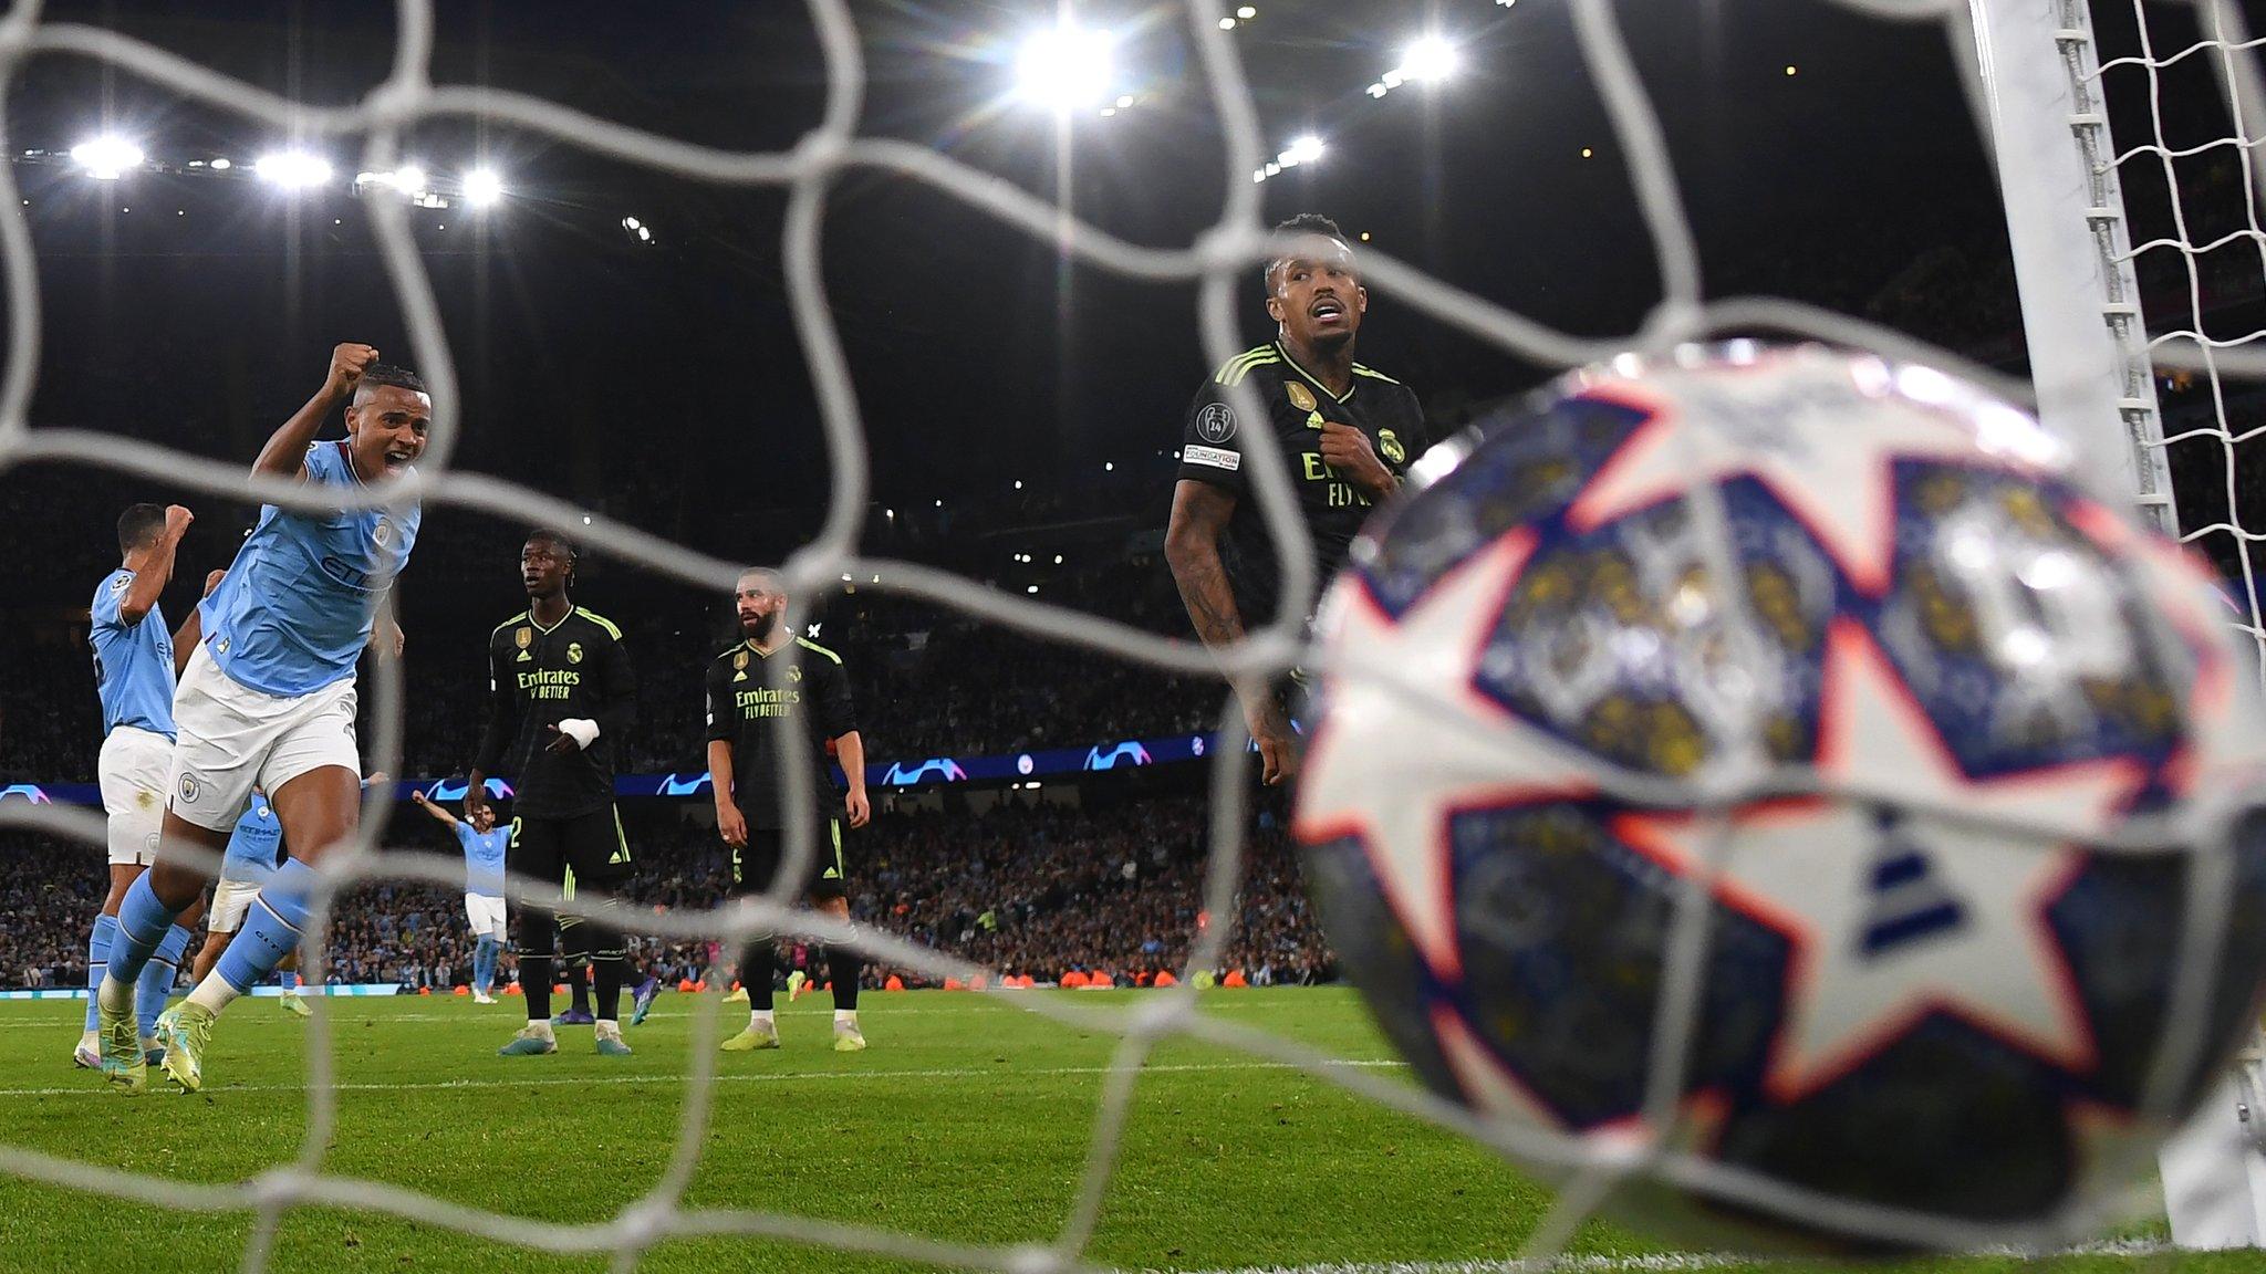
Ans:
<svg viewBox="0 0 2266 1274"><path fill-rule="evenodd" d="M1165 528L1165 560L1206 646L1237 642L1273 614L1283 578L1244 472L1251 431L1271 431L1289 462L1321 583L1346 562L1371 506L1400 487L1430 440L1416 394L1353 360L1369 290L1337 222L1301 213L1276 236L1283 247L1264 274L1276 338L1230 358L1196 390ZM1260 419L1237 419L1228 401L1237 385L1253 390ZM1264 780L1296 773L1283 694L1246 696L1244 721Z"/></svg>

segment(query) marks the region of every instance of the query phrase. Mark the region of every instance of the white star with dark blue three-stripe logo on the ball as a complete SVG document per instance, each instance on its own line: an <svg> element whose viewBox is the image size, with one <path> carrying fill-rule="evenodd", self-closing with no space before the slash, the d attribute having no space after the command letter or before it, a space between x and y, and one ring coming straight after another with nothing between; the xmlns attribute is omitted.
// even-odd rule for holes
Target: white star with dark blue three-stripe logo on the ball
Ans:
<svg viewBox="0 0 2266 1274"><path fill-rule="evenodd" d="M1688 814L1622 814L1613 827L1684 875L1702 870L1711 836L1731 836L1718 898L1792 941L1770 1093L1815 1093L1931 1013L2092 1070L2092 1029L2046 909L2082 868L2062 836L2105 830L2139 787L2139 766L1974 780L1872 637L1845 619L1829 635L1817 768L1829 782L1885 778L1894 791L1883 805L1765 800L1733 814L1729 830ZM1958 818L1933 814L1946 809Z"/></svg>

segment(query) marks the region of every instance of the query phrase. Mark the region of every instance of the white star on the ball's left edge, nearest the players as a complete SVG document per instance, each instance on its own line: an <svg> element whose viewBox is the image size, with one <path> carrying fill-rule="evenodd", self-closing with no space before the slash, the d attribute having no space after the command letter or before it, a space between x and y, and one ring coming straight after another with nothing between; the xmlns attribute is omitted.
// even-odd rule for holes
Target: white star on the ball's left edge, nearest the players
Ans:
<svg viewBox="0 0 2266 1274"><path fill-rule="evenodd" d="M1337 657L1389 671L1407 687L1455 687L1457 716L1353 669L1323 678L1328 719L1298 782L1292 830L1305 843L1355 836L1416 952L1439 977L1459 977L1448 821L1545 793L1586 793L1588 771L1493 698L1473 689L1534 535L1516 530L1473 553L1400 619L1348 576L1330 598Z"/></svg>

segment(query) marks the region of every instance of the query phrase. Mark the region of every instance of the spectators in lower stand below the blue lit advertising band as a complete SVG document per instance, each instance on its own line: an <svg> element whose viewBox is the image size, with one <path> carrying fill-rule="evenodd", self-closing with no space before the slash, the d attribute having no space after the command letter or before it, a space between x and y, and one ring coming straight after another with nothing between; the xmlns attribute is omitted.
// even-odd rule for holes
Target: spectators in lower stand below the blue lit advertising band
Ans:
<svg viewBox="0 0 2266 1274"><path fill-rule="evenodd" d="M639 870L628 893L657 909L723 902L730 861L712 827L673 802L630 807ZM1201 925L1203 800L1160 796L1106 807L1002 800L988 812L884 814L850 839L852 916L911 943L999 973L1058 982L1065 973L1178 970ZM431 852L421 821L390 841ZM440 841L437 832L431 836ZM48 836L0 836L0 984L84 986L86 916L102 902L93 850ZM1228 948L1217 975L1253 984L1323 982L1332 959L1307 909L1280 816L1262 809L1246 848ZM467 984L474 943L460 891L374 882L333 909L329 982L392 982L408 991ZM786 941L784 970L813 966ZM714 943L639 938L634 963L664 984L730 979ZM813 968L813 973L818 973ZM931 973L872 961L866 984L936 986Z"/></svg>

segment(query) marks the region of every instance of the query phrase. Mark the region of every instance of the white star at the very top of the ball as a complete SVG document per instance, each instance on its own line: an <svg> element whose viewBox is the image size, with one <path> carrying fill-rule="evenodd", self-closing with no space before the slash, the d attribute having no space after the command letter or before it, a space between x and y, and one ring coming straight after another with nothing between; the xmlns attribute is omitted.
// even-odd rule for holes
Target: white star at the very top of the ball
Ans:
<svg viewBox="0 0 2266 1274"><path fill-rule="evenodd" d="M1568 510L1588 533L1681 496L1700 483L1752 476L1792 512L1867 596L1888 592L1897 537L1897 460L2003 467L1969 426L1899 397L1849 410L1849 376L1783 365L1783 376L1709 376L1652 399L1625 383L1584 397L1645 410Z"/></svg>

